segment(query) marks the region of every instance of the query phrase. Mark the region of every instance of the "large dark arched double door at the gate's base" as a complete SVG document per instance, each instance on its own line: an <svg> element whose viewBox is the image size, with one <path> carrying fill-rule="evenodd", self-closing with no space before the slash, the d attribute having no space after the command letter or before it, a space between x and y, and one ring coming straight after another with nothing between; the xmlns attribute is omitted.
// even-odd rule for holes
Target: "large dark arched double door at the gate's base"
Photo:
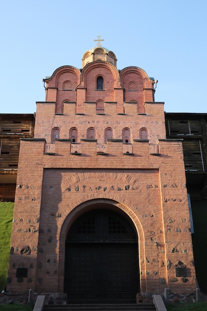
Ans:
<svg viewBox="0 0 207 311"><path fill-rule="evenodd" d="M66 239L68 303L135 303L138 292L138 237L130 219L108 209L80 216Z"/></svg>

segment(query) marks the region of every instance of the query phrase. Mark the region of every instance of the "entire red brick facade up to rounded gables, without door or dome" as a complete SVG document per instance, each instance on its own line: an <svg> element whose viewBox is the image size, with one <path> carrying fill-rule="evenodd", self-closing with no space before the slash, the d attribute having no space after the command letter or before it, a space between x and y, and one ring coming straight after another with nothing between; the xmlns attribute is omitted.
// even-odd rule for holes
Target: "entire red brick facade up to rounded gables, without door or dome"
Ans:
<svg viewBox="0 0 207 311"><path fill-rule="evenodd" d="M122 209L136 226L141 291L159 293L168 287L192 292L196 284L182 142L165 139L163 103L153 102L153 81L138 68L121 73L126 83L138 81L138 114L137 103L124 104L124 85L116 68L91 63L82 71L76 103L71 97L63 114L55 114L57 105L69 99L59 82L74 78L76 83L77 70L65 70L58 69L47 81L48 87L58 87L57 97L51 92L51 102L37 103L34 139L21 141L8 290L18 292L21 283L21 291L63 292L69 227L92 203L104 203ZM107 86L96 91L100 73ZM98 99L105 102L104 115L96 115ZM54 127L60 128L55 144ZM72 127L78 130L75 144L69 140ZM91 127L96 140L87 141ZM115 140L105 143L108 127ZM123 128L130 129L132 144L123 144ZM149 141L139 140L141 128L147 128ZM180 262L188 268L187 278L175 275ZM15 278L19 266L28 267L23 281Z"/></svg>

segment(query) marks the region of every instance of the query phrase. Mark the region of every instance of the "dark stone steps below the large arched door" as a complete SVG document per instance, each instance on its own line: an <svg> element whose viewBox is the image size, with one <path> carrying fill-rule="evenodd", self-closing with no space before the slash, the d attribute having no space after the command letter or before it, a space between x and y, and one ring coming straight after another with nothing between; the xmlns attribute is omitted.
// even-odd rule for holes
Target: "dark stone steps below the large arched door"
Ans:
<svg viewBox="0 0 207 311"><path fill-rule="evenodd" d="M84 304L45 305L44 311L155 311L153 304Z"/></svg>

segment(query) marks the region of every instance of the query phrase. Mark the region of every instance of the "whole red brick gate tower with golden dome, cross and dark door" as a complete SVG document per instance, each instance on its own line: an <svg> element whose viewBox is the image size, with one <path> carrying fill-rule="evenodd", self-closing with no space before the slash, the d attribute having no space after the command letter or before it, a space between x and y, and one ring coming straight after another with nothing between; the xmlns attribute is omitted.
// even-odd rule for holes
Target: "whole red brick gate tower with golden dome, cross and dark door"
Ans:
<svg viewBox="0 0 207 311"><path fill-rule="evenodd" d="M20 144L7 289L72 303L195 290L182 141L166 139L154 78L113 52L44 79Z"/></svg>

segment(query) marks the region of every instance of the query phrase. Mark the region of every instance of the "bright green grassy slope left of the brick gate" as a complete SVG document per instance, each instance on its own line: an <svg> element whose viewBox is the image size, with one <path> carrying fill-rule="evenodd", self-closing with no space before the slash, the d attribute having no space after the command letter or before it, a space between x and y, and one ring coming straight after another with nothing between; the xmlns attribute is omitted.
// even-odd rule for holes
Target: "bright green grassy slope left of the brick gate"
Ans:
<svg viewBox="0 0 207 311"><path fill-rule="evenodd" d="M0 291L7 281L13 206L13 202L0 202Z"/></svg>

